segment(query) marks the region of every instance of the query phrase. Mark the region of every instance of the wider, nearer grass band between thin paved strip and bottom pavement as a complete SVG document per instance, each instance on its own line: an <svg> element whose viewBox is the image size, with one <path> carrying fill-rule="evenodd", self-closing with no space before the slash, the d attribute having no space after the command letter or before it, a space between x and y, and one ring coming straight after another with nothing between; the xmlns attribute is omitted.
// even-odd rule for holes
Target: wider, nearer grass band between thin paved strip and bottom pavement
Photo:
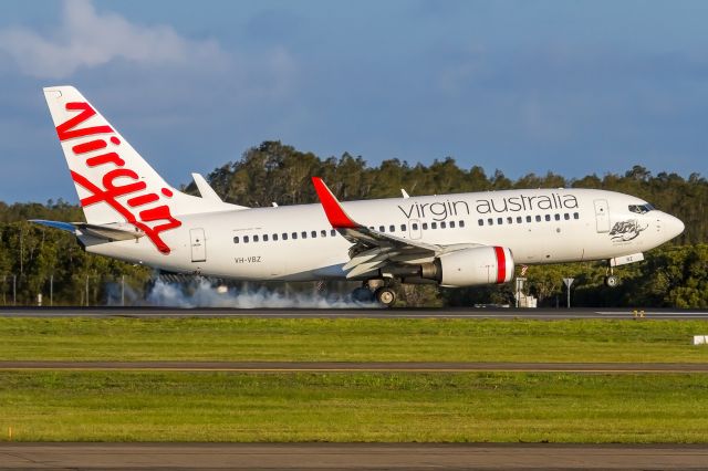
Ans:
<svg viewBox="0 0 708 471"><path fill-rule="evenodd" d="M0 440L708 441L708 375L0 373Z"/></svg>

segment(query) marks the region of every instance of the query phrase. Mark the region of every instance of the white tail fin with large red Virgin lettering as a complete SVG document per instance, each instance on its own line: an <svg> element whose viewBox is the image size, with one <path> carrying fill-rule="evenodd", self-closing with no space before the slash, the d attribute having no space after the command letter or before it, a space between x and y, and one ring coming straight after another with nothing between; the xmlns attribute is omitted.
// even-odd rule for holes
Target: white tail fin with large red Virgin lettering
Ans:
<svg viewBox="0 0 708 471"><path fill-rule="evenodd" d="M232 208L171 188L73 86L44 97L87 223L129 222L169 253L160 233L180 227L179 214Z"/></svg>

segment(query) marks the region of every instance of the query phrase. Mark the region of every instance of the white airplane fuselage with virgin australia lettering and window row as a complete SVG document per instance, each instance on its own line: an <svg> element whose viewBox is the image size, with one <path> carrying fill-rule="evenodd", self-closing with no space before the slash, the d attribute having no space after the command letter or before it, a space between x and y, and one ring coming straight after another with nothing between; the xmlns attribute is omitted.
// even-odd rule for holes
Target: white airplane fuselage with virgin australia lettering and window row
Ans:
<svg viewBox="0 0 708 471"><path fill-rule="evenodd" d="M638 254L679 234L665 212L639 213L645 201L590 189L504 190L344 202L376 231L436 245L509 248L518 264ZM334 231L321 205L176 214L160 253L148 238L94 243L86 250L158 269L235 280L344 279L352 243ZM295 236L293 236L295 234ZM304 237L303 237L304 234ZM277 240L275 240L277 239Z"/></svg>

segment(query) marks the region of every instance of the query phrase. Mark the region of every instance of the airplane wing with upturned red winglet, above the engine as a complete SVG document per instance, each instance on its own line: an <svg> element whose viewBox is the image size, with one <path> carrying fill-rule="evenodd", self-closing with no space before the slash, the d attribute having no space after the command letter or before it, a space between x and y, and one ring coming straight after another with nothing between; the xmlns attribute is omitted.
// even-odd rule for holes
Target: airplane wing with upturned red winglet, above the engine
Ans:
<svg viewBox="0 0 708 471"><path fill-rule="evenodd" d="M478 247L478 244L436 245L378 232L354 221L321 178L313 177L312 182L330 224L354 244L350 249L351 260L343 266L347 272L346 278L356 278L397 264L430 262L442 253Z"/></svg>

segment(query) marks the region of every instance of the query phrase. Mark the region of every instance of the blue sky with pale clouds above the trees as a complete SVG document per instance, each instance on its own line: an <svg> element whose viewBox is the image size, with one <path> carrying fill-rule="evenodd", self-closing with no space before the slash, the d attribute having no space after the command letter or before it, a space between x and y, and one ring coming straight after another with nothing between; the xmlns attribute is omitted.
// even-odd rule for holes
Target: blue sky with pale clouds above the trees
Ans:
<svg viewBox="0 0 708 471"><path fill-rule="evenodd" d="M41 88L171 185L263 140L508 177L708 176L708 2L4 0L0 200L76 202Z"/></svg>

